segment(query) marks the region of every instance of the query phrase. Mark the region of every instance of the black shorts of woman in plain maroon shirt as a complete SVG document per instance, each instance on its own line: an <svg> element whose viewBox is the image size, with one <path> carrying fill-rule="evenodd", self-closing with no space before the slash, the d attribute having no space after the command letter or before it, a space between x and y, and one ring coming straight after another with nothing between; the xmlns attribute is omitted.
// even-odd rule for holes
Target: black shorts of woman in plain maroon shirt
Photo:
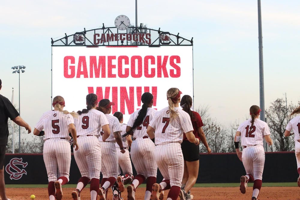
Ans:
<svg viewBox="0 0 300 200"><path fill-rule="evenodd" d="M183 154L183 159L185 161L196 161L199 160L199 145L194 145L188 140L184 140L181 143L181 149Z"/></svg>

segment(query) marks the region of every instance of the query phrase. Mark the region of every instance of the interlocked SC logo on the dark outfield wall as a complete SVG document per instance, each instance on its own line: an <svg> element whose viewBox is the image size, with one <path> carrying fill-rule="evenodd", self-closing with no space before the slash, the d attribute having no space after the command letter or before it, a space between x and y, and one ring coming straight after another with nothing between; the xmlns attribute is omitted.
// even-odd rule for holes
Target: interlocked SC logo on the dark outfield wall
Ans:
<svg viewBox="0 0 300 200"><path fill-rule="evenodd" d="M5 167L5 170L7 174L10 175L10 180L19 180L22 178L23 174L27 175L27 172L25 169L20 169L19 167L25 168L28 163L23 163L22 158L13 158L10 160L10 162Z"/></svg>

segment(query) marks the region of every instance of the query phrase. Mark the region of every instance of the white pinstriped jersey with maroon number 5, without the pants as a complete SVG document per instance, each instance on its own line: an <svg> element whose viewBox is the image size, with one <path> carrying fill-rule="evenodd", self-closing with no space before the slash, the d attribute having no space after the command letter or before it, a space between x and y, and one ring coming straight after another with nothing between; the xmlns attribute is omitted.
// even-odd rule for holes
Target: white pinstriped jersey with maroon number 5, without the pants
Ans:
<svg viewBox="0 0 300 200"><path fill-rule="evenodd" d="M44 129L44 140L50 138L71 139L68 131L69 124L74 124L72 115L58 110L50 110L42 115L35 128L39 131Z"/></svg>

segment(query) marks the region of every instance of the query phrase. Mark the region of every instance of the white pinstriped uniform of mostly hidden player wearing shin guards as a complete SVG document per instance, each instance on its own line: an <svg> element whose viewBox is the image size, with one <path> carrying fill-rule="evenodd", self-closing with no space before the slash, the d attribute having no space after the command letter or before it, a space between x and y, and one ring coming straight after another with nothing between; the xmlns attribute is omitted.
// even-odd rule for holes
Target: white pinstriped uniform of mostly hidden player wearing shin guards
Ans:
<svg viewBox="0 0 300 200"><path fill-rule="evenodd" d="M121 135L123 135L123 134L126 133L127 124L120 124L120 125L121 125L121 129L122 129ZM130 155L129 155L129 151L128 151L129 145L127 143L126 137L122 138L122 142L123 142L123 146L125 148L125 153L124 154L122 154L120 152L120 147L116 143L116 150L117 150L118 163L119 163L119 174L121 174L120 168L122 169L122 172L124 174L125 173L133 174Z"/></svg>

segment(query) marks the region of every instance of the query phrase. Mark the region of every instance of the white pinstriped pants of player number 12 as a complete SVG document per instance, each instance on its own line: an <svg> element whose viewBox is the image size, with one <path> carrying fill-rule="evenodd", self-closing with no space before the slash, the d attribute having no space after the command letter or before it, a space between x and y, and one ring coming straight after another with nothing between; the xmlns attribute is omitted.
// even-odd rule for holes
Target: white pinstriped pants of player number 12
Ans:
<svg viewBox="0 0 300 200"><path fill-rule="evenodd" d="M253 175L254 180L262 180L265 166L265 150L262 145L247 146L242 153L243 165L247 174Z"/></svg>

